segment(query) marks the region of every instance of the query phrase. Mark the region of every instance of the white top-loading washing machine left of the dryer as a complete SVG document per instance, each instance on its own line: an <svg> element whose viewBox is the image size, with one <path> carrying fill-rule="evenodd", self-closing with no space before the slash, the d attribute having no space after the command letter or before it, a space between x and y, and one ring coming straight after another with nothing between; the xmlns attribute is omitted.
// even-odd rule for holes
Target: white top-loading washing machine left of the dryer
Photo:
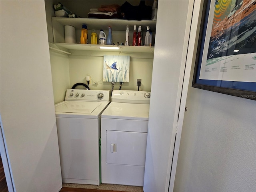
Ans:
<svg viewBox="0 0 256 192"><path fill-rule="evenodd" d="M110 91L68 89L55 105L62 182L100 184L100 118Z"/></svg>

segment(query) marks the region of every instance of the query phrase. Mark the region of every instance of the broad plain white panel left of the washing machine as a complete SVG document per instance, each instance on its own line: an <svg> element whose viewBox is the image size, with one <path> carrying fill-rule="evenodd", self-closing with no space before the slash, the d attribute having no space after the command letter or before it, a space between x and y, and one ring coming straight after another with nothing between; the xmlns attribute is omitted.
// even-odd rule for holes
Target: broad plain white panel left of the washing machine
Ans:
<svg viewBox="0 0 256 192"><path fill-rule="evenodd" d="M57 192L62 180L44 1L0 3L1 128L14 191Z"/></svg>

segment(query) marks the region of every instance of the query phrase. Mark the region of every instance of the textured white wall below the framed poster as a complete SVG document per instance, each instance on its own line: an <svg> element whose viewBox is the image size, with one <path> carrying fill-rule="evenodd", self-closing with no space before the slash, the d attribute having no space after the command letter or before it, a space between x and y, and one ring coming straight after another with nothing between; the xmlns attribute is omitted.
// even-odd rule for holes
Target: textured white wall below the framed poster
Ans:
<svg viewBox="0 0 256 192"><path fill-rule="evenodd" d="M192 88L193 72L174 191L256 191L256 101Z"/></svg>

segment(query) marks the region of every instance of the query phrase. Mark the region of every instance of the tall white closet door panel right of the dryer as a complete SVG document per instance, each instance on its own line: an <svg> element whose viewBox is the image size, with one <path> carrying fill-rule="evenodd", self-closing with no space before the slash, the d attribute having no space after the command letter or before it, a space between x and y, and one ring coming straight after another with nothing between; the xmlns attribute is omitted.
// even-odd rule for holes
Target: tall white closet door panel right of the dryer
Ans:
<svg viewBox="0 0 256 192"><path fill-rule="evenodd" d="M200 2L195 4L200 7ZM195 44L194 31L190 34L193 4L158 1L144 192L173 190L192 64L188 48ZM164 84L159 85L160 79Z"/></svg>

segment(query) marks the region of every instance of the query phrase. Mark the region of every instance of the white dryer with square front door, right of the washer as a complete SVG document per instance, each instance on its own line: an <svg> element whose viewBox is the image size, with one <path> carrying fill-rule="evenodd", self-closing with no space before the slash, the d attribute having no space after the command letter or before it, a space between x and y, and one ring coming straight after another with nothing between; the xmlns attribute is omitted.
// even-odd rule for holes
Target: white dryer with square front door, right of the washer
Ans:
<svg viewBox="0 0 256 192"><path fill-rule="evenodd" d="M150 92L114 90L101 118L101 179L143 186Z"/></svg>

